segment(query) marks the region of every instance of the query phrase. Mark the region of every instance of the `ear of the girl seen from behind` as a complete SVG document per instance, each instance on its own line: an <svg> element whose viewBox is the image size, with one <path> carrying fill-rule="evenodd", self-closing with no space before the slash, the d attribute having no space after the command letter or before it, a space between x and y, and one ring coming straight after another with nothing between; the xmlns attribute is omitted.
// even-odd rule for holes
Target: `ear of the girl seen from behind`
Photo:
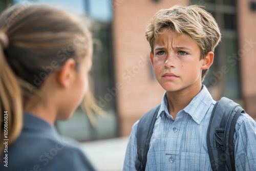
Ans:
<svg viewBox="0 0 256 171"><path fill-rule="evenodd" d="M57 82L63 88L68 88L74 80L76 62L73 58L69 58L61 70L57 74Z"/></svg>

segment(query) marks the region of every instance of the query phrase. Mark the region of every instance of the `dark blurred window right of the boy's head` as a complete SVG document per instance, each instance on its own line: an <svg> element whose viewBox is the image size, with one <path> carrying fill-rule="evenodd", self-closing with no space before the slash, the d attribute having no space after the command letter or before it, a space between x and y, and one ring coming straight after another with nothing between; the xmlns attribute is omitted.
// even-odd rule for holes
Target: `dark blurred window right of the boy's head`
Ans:
<svg viewBox="0 0 256 171"><path fill-rule="evenodd" d="M218 23L222 39L215 50L214 65L209 69L203 84L206 85L214 99L222 96L239 100L240 77L238 58L238 33L236 1L233 0L191 0L191 4L203 5ZM231 60L236 59L236 61Z"/></svg>

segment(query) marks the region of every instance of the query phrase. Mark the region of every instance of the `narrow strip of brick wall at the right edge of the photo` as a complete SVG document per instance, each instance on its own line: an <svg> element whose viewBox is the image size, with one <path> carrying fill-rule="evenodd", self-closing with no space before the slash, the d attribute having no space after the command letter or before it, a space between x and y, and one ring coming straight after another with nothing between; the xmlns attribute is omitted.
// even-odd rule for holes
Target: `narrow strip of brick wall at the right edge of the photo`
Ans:
<svg viewBox="0 0 256 171"><path fill-rule="evenodd" d="M237 1L239 51L241 56L241 86L246 112L256 118L256 11L251 1Z"/></svg>

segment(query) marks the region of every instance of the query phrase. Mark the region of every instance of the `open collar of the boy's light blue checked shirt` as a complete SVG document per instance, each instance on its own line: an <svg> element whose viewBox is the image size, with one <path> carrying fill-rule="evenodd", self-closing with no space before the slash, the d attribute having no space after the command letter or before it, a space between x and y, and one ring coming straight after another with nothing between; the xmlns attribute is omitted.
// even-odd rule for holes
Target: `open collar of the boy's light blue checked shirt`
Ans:
<svg viewBox="0 0 256 171"><path fill-rule="evenodd" d="M200 124L205 114L207 113L209 106L214 103L207 88L203 85L201 91L190 101L190 103L183 109L188 115L190 115L197 124ZM163 95L160 109L158 111L157 118L160 115L166 114L170 117L168 112L168 102L166 92Z"/></svg>

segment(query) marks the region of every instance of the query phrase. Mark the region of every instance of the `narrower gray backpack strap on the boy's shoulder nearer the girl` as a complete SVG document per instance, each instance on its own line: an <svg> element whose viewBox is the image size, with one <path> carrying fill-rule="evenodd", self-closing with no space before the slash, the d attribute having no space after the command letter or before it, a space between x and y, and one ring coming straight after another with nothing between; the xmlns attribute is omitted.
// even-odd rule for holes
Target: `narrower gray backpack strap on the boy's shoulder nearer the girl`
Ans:
<svg viewBox="0 0 256 171"><path fill-rule="evenodd" d="M135 163L137 170L145 170L147 152L159 108L160 104L145 113L139 120L137 127L137 158Z"/></svg>

